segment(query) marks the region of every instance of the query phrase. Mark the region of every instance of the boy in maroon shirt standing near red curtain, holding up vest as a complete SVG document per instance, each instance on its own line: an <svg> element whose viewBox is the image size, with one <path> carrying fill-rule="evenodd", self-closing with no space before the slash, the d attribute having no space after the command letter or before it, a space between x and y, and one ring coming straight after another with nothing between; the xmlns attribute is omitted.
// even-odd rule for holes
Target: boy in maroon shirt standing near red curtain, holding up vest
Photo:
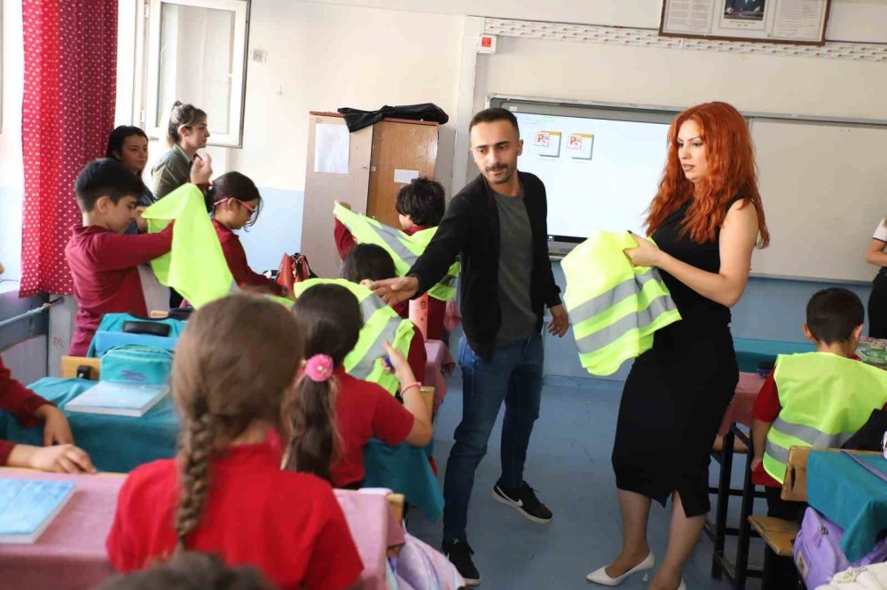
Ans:
<svg viewBox="0 0 887 590"><path fill-rule="evenodd" d="M192 182L207 182L211 174L210 159L197 160ZM125 234L130 221L144 226L136 199L145 185L115 159L87 164L77 176L74 190L83 222L72 230L65 246L77 299L76 328L68 353L82 356L102 315L148 314L138 265L169 252L172 227L156 234Z"/></svg>

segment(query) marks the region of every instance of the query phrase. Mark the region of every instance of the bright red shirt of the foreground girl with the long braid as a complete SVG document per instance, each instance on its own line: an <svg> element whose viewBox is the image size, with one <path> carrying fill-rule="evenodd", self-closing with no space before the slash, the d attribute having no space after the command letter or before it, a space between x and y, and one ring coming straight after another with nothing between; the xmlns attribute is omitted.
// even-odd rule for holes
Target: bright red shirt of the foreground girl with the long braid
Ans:
<svg viewBox="0 0 887 590"><path fill-rule="evenodd" d="M281 588L349 587L363 563L333 488L319 477L280 470L281 458L271 437L216 454L200 523L186 547L215 553L232 566L254 565ZM178 499L175 459L130 473L106 541L117 570L140 570L173 554Z"/></svg>

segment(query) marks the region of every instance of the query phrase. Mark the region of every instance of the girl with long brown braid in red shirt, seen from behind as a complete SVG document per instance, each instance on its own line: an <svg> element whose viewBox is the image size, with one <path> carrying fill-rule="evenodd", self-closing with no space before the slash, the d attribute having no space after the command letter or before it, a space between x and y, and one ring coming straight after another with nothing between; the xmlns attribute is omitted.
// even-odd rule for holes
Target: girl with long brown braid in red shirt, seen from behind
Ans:
<svg viewBox="0 0 887 590"><path fill-rule="evenodd" d="M280 470L280 411L301 363L298 322L270 299L238 294L192 314L172 375L182 450L127 477L106 543L114 567L186 548L255 565L282 588L357 580L363 565L330 485Z"/></svg>

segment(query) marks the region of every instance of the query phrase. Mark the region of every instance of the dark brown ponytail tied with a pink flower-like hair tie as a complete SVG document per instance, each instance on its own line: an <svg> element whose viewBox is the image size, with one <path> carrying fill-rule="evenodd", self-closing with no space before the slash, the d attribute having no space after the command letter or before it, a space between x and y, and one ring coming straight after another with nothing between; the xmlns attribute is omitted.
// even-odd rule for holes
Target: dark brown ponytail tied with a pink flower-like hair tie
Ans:
<svg viewBox="0 0 887 590"><path fill-rule="evenodd" d="M285 459L285 469L313 473L331 481L330 467L336 457L335 394L333 358L315 354L305 364L297 395L284 409L292 444Z"/></svg>

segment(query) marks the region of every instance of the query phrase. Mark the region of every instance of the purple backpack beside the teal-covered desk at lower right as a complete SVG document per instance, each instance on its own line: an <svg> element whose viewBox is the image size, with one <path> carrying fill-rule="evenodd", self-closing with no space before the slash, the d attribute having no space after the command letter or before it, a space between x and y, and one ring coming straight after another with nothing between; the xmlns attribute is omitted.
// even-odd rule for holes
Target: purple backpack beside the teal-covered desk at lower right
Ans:
<svg viewBox="0 0 887 590"><path fill-rule="evenodd" d="M845 454L867 470L875 473L876 476L887 481L887 475L881 471L861 462L852 454ZM844 555L844 550L841 549L842 537L844 537L844 529L822 516L815 509L806 509L804 520L801 521L801 531L797 533L795 538L794 549L797 571L808 588L818 588L828 584L832 576L847 568L887 561L887 539L882 539L875 543L875 547L868 552L868 555L849 563Z"/></svg>

